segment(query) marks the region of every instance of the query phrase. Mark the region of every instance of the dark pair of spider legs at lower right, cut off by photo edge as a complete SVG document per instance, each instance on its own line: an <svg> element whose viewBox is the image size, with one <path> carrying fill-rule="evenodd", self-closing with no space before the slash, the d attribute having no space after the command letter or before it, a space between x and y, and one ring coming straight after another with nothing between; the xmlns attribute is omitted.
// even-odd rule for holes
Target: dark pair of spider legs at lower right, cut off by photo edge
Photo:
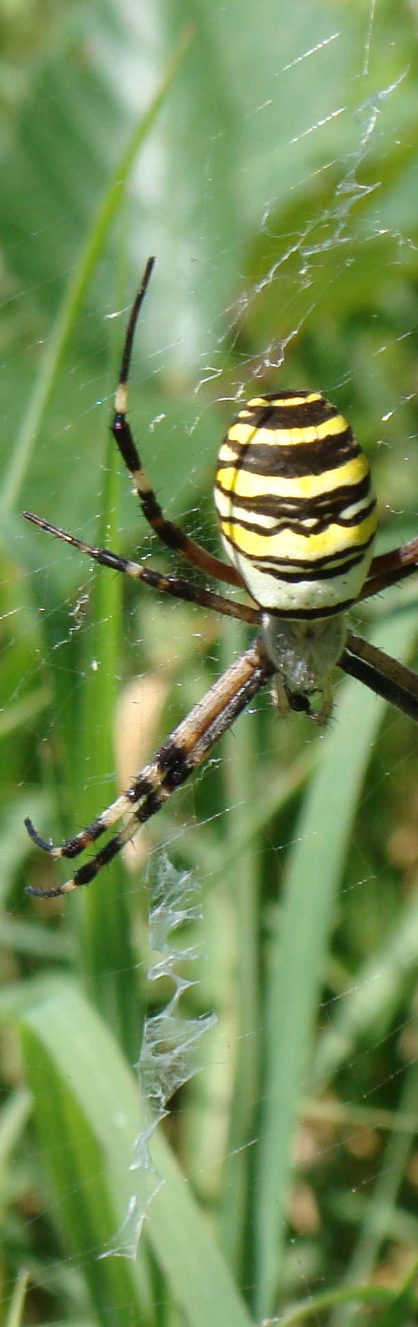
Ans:
<svg viewBox="0 0 418 1327"><path fill-rule="evenodd" d="M418 677L398 660L348 632L339 667L418 722Z"/></svg>

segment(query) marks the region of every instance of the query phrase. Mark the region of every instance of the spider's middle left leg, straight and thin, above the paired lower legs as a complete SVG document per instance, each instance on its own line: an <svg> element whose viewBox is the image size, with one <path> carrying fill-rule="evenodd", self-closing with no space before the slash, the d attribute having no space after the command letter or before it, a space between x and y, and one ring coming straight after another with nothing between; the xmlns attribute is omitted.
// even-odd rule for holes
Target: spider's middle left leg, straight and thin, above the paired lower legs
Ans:
<svg viewBox="0 0 418 1327"><path fill-rule="evenodd" d="M38 529L45 529L48 535L63 539L66 544L78 548L81 553L86 553L94 561L99 563L101 567L111 567L114 572L123 572L126 576L131 576L132 580L139 580L144 585L149 585L151 589L171 594L172 598L184 598L189 604L200 604L201 608L210 608L216 613L222 613L224 617L239 617L242 622L259 622L259 609L257 608L250 608L246 604L235 604L233 600L224 598L222 594L216 594L214 591L192 585L190 581L183 580L181 576L164 576L163 572L152 571L151 567L142 567L140 563L135 563L130 557L120 557L119 553L112 553L108 548L95 548L93 544L86 544L83 539L77 539L75 535L70 535L66 529L52 525L49 520L36 516L32 511L22 511L22 516L25 520L30 520L33 525L37 525Z"/></svg>

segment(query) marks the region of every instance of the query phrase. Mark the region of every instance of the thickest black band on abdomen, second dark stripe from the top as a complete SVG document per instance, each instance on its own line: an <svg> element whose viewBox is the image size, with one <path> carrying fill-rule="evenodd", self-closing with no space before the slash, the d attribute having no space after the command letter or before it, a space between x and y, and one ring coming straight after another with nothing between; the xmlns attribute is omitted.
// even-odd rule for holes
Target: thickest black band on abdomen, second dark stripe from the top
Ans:
<svg viewBox="0 0 418 1327"><path fill-rule="evenodd" d="M230 470L231 466L247 470L253 475L266 475L283 479L298 479L300 475L321 475L327 470L336 470L345 466L347 460L358 456L361 451L358 442L353 438L348 427L345 433L333 434L315 442L299 443L271 443L257 442L257 435L251 442L235 442L228 435L225 442L234 450L230 460L221 458L217 463L217 472Z"/></svg>

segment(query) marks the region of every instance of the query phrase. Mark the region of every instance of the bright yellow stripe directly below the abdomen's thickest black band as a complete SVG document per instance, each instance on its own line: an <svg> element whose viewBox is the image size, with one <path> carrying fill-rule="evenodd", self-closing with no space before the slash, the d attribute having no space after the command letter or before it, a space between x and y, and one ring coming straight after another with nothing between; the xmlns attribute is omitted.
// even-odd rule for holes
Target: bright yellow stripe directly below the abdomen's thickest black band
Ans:
<svg viewBox="0 0 418 1327"><path fill-rule="evenodd" d="M225 458L226 459L226 458ZM220 470L217 480L225 494L237 494L249 502L266 494L271 498L317 498L320 494L336 492L343 484L358 484L369 474L369 466L362 453L353 456L345 466L325 470L323 475L299 475L295 479L282 479L282 475L253 475L250 470L228 466ZM356 502L353 494L352 502Z"/></svg>

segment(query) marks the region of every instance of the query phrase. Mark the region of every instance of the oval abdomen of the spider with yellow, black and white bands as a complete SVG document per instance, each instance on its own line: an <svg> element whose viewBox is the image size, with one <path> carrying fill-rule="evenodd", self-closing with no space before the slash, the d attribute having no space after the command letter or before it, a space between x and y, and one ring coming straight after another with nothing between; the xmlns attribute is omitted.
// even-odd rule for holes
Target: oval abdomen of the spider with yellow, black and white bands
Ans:
<svg viewBox="0 0 418 1327"><path fill-rule="evenodd" d="M228 556L262 608L321 617L357 598L377 524L370 470L317 391L254 397L239 410L214 500Z"/></svg>

